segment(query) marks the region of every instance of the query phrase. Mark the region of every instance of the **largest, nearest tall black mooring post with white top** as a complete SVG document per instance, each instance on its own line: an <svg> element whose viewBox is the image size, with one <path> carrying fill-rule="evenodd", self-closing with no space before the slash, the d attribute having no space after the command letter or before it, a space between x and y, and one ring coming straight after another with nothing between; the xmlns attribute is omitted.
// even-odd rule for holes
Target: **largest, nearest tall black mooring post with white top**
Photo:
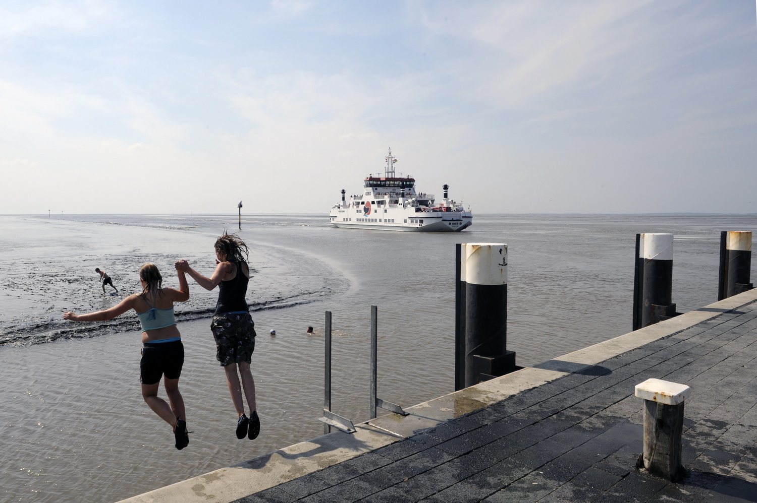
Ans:
<svg viewBox="0 0 757 503"><path fill-rule="evenodd" d="M507 245L463 244L465 265L465 386L516 369L507 350Z"/></svg>

